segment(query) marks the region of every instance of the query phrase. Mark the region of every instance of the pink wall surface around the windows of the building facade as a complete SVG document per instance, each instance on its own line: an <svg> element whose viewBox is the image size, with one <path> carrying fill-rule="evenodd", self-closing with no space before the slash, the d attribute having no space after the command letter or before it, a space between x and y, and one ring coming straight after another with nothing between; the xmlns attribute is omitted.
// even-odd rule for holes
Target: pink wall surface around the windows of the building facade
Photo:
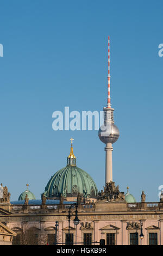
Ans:
<svg viewBox="0 0 163 256"><path fill-rule="evenodd" d="M84 233L91 233L92 234L92 245L94 245L93 241L99 242L100 239L106 240L106 234L107 233L115 233L115 244L116 245L129 245L129 233L133 232L135 233L135 229L129 229L127 230L127 222L128 220L123 221L83 221L85 224L86 222L92 223L91 229L84 229L80 230L81 224L79 223L76 226L73 224L73 221L70 222L70 233L73 233L74 236L74 243L81 243L83 242L83 234ZM130 222L133 222L130 221ZM135 220L135 222L139 222ZM148 234L151 233L157 233L158 234L158 245L163 245L163 220L142 220L143 223L143 235L144 238L140 239L139 237L139 245L148 245ZM110 226L111 225L111 226ZM9 228L23 228L23 224L21 222L9 222L7 223L7 226ZM28 222L28 228L30 227L36 227L38 230L41 230L42 232L45 231L46 233L55 233L55 221L43 221L43 222ZM49 230L48 230L49 228ZM118 228L118 229L117 229ZM101 230L102 229L102 230ZM65 234L68 233L68 221L59 221L59 227L58 227L58 242L65 243ZM140 229L138 230L138 233L140 234ZM80 244L79 244L80 245ZM98 243L95 243L95 245L98 245Z"/></svg>

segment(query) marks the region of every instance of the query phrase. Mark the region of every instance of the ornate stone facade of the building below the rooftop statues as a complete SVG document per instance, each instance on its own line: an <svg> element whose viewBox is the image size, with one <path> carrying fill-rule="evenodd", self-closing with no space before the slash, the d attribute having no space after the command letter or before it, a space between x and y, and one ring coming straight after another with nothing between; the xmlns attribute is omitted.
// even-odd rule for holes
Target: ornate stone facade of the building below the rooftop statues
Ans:
<svg viewBox="0 0 163 256"><path fill-rule="evenodd" d="M58 221L57 242L59 245L65 245L69 207L70 204L1 203L1 221L17 234L30 229L36 235L43 234L43 244L47 244L48 237L53 237L55 234L55 222ZM105 244L112 242L115 245L130 245L135 242L135 239L138 245L148 245L151 241L163 245L163 202L127 203L126 201L97 200L96 203L79 203L80 222L77 226L73 224L75 210L75 207L71 209L70 234L73 234L73 243L77 242L78 245L83 245L83 242L90 243L90 241L92 245L99 245L97 242L100 239L104 239ZM140 222L143 224L142 240L140 239Z"/></svg>

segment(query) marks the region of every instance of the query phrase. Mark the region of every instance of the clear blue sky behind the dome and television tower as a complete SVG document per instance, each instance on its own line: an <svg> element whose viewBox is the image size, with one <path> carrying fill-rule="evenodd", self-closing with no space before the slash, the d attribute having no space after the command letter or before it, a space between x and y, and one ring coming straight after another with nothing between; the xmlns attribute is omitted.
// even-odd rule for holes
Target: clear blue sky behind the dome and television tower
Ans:
<svg viewBox="0 0 163 256"><path fill-rule="evenodd" d="M158 201L162 179L162 1L1 1L0 182L17 200L40 194L66 166L70 138L78 167L104 186L97 131L54 131L52 113L102 111L110 35L111 103L120 138L113 179L120 190Z"/></svg>

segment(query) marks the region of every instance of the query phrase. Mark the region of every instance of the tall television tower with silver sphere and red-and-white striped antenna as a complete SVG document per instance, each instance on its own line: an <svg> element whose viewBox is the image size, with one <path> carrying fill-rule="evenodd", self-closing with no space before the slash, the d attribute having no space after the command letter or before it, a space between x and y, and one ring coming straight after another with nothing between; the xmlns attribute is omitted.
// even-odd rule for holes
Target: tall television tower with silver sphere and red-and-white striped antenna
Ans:
<svg viewBox="0 0 163 256"><path fill-rule="evenodd" d="M110 103L110 39L108 36L108 98L107 105L103 108L104 124L99 128L98 137L106 144L105 159L105 184L112 181L112 143L115 143L120 136L118 127L114 124L113 112Z"/></svg>

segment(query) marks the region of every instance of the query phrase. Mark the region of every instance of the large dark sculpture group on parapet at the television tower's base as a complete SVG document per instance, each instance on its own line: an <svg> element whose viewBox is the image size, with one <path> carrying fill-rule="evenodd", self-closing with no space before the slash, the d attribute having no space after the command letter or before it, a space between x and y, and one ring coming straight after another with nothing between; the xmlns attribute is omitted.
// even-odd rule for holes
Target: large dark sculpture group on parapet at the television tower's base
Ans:
<svg viewBox="0 0 163 256"><path fill-rule="evenodd" d="M111 181L106 183L106 186L103 188L104 191L102 190L101 193L99 193L98 200L107 200L109 202L125 200L124 192L119 191L119 186L115 186L115 182Z"/></svg>

